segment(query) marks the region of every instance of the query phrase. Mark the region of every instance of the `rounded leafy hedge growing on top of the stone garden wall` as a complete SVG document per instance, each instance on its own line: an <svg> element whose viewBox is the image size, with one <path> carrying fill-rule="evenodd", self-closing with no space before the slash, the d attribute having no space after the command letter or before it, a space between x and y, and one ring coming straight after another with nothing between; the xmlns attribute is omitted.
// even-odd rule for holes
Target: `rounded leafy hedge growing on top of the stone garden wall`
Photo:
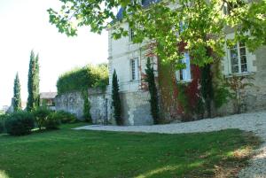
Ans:
<svg viewBox="0 0 266 178"><path fill-rule="evenodd" d="M62 74L57 81L59 95L66 92L83 91L91 87L105 89L106 85L108 85L106 64L75 68Z"/></svg>

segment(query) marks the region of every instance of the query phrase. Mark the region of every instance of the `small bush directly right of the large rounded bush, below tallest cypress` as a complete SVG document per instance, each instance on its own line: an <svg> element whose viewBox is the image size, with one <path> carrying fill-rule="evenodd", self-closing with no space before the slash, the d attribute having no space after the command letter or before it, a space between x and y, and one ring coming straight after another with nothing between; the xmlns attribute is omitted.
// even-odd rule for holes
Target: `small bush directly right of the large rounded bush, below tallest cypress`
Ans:
<svg viewBox="0 0 266 178"><path fill-rule="evenodd" d="M51 113L51 110L45 108L45 107L39 107L34 112L35 116L35 122L39 129L42 129L44 127L44 122Z"/></svg>

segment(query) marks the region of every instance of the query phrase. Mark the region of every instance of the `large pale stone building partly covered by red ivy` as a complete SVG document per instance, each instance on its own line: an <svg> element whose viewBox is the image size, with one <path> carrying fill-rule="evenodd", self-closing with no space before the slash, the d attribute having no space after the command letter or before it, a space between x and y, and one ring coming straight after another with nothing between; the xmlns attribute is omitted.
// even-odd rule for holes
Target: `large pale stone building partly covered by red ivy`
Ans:
<svg viewBox="0 0 266 178"><path fill-rule="evenodd" d="M148 5L150 2L154 2L154 0L142 1L144 5ZM118 12L118 19L121 19L121 14L122 9ZM132 43L134 32L129 29L127 23L121 23L120 26L129 30L129 36L114 40L111 37L113 28L108 30L109 83L112 83L112 74L115 69L121 89L122 117L126 125L153 124L153 119L150 114L150 97L148 91L145 89L144 82L145 64L147 61L147 51L144 48L146 43ZM233 34L229 30L227 38L231 38L232 36ZM226 52L226 56L223 58L220 70L222 70L225 78L231 78L232 76L251 76L254 78L254 81L252 81L254 87L245 90L245 96L243 98L245 107L241 112L253 112L255 110L266 109L266 47L262 47L252 53L246 48L244 43L237 43L233 48L225 46L224 51ZM176 83L184 82L188 86L193 86L199 82L200 79L196 77L197 68L191 65L190 60L189 54L186 53L184 55L184 63L187 67L184 70L176 71ZM155 75L160 90L160 109L164 112L162 117L168 118L169 121L181 120L179 117L180 112L176 111L178 104L177 106L174 104L176 100L168 100L173 94L169 93L168 90L164 92L165 95L163 93L163 89L168 87L168 81L171 81L171 78L167 74L160 73L161 68L159 67L159 63L160 61L153 58L153 66L156 71ZM165 76L161 77L163 75ZM112 86L109 86L107 89L109 101L111 100L111 89ZM222 108L213 113L213 116L234 113L235 111L232 109L233 103L234 101L231 100L228 104L223 105ZM111 112L109 112L109 119L112 118L110 115Z"/></svg>

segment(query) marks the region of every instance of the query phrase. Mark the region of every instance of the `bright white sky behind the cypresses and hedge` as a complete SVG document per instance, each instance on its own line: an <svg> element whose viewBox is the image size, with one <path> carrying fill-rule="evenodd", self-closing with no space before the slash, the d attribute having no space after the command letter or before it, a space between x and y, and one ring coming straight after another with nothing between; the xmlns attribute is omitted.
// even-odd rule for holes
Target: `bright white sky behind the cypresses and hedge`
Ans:
<svg viewBox="0 0 266 178"><path fill-rule="evenodd" d="M107 62L107 32L83 27L77 37L67 37L49 23L47 9L60 6L59 0L0 0L0 109L11 104L17 72L27 101L31 50L40 57L41 92L56 91L59 75L76 66Z"/></svg>

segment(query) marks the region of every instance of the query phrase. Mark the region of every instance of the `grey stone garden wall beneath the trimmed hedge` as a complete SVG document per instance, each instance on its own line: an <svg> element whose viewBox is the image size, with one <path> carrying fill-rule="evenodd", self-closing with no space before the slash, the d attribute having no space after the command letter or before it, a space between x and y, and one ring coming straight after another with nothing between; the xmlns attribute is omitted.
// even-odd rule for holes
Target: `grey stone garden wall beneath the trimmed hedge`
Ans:
<svg viewBox="0 0 266 178"><path fill-rule="evenodd" d="M107 121L106 93L102 89L88 89L90 114L93 124L105 124ZM81 92L71 92L55 98L56 111L74 113L83 120L84 99Z"/></svg>

